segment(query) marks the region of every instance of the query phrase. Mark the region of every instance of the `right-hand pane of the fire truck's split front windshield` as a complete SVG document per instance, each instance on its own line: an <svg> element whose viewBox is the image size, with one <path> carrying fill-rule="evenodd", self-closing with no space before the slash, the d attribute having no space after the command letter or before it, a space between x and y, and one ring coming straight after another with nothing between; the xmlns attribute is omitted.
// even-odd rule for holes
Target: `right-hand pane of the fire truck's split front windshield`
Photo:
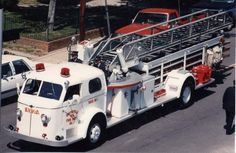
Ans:
<svg viewBox="0 0 236 153"><path fill-rule="evenodd" d="M49 99L59 100L61 97L62 86L51 82L43 82L39 96Z"/></svg>

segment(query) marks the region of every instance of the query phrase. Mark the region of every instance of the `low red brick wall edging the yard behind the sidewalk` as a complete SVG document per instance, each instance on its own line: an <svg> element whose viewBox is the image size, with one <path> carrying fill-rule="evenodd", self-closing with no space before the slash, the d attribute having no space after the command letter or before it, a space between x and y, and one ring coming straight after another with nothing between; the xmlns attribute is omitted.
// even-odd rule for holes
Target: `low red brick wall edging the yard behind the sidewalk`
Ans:
<svg viewBox="0 0 236 153"><path fill-rule="evenodd" d="M101 37L103 35L104 35L103 28L93 29L86 32L86 39L94 39L94 38ZM74 35L74 36L79 38L79 34ZM41 49L43 52L47 53L56 49L67 47L67 45L69 44L71 40L71 37L72 36L46 42L46 41L41 41L41 40L36 40L36 39L31 39L31 38L26 38L26 37L21 36L20 39L17 40L17 43L23 44L23 45L34 46L38 49Z"/></svg>

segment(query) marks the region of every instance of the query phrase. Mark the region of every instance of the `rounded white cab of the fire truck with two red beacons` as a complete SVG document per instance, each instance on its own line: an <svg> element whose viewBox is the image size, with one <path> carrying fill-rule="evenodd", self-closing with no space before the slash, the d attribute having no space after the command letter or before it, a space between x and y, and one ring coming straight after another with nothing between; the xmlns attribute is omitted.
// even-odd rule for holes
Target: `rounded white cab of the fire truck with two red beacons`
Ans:
<svg viewBox="0 0 236 153"><path fill-rule="evenodd" d="M31 142L66 146L85 138L88 121L100 118L90 127L95 141L101 132L97 126L106 126L106 94L104 74L97 68L77 63L44 68L39 63L19 95L15 130Z"/></svg>

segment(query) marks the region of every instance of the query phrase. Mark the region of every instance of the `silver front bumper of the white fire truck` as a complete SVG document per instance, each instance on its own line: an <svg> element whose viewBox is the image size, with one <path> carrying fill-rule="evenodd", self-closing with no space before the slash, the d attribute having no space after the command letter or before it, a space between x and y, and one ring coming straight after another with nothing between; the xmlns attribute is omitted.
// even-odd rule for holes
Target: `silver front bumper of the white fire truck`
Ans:
<svg viewBox="0 0 236 153"><path fill-rule="evenodd" d="M64 147L68 146L70 143L68 140L60 140L60 141L51 141L51 140L44 140L44 139L39 139L39 138L33 138L30 136L26 136L20 133L17 133L15 129L9 129L7 127L4 127L4 131L7 135L13 136L17 139L33 142L33 143L38 143L38 144L43 144L47 146L53 146L53 147Z"/></svg>

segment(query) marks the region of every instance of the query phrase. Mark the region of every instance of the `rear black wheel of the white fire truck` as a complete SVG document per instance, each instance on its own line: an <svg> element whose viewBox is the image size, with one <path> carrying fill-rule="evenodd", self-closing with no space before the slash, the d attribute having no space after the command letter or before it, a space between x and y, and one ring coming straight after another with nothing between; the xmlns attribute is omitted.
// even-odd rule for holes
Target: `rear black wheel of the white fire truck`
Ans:
<svg viewBox="0 0 236 153"><path fill-rule="evenodd" d="M187 79L184 82L179 97L180 109L187 108L193 104L193 96L194 96L193 92L194 92L194 82L192 79Z"/></svg>

